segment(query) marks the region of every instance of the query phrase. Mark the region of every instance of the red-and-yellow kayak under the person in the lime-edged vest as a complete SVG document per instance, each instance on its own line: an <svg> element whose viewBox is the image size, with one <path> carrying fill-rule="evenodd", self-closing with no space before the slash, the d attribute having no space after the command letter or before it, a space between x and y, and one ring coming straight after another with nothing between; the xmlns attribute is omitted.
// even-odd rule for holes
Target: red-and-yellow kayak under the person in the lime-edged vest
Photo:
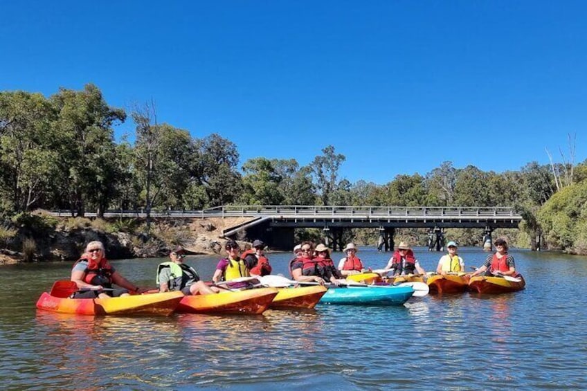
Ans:
<svg viewBox="0 0 587 391"><path fill-rule="evenodd" d="M179 313L263 313L278 294L276 288L221 291L211 295L184 296Z"/></svg>

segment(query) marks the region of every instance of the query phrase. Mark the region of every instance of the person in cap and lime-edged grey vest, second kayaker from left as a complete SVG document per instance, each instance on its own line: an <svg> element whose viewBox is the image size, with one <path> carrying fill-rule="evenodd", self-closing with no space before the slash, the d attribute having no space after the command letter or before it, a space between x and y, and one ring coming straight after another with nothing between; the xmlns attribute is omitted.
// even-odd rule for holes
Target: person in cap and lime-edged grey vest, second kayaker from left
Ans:
<svg viewBox="0 0 587 391"><path fill-rule="evenodd" d="M217 293L217 288L208 287L200 280L195 269L183 263L184 257L186 250L178 246L169 254L170 262L163 262L157 266L156 284L159 291L181 291L184 295Z"/></svg>

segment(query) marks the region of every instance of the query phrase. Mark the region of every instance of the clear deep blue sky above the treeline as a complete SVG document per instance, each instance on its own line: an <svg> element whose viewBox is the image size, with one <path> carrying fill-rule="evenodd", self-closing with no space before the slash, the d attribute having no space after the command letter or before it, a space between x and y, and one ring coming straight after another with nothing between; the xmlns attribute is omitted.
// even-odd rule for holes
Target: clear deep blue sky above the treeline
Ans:
<svg viewBox="0 0 587 391"><path fill-rule="evenodd" d="M587 158L582 1L0 0L0 91L96 84L115 107L217 133L249 158L383 184ZM116 128L132 133L129 120Z"/></svg>

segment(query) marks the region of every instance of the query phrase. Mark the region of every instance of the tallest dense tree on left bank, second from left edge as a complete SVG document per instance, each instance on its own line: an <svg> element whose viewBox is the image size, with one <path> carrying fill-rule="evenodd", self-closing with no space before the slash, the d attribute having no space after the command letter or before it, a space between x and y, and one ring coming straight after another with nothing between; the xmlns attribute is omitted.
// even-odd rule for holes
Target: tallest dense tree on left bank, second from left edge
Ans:
<svg viewBox="0 0 587 391"><path fill-rule="evenodd" d="M116 178L113 165L114 131L112 127L126 119L123 109L110 107L102 92L93 84L82 91L61 88L51 96L57 110L55 136L60 145L62 196L71 210L83 216L88 201L102 206L109 203L110 186Z"/></svg>

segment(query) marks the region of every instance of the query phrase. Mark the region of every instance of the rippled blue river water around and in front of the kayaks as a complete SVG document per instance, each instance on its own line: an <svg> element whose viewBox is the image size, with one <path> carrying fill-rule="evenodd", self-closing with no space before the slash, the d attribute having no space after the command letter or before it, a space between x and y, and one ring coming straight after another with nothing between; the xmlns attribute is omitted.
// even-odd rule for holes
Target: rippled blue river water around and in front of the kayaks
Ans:
<svg viewBox="0 0 587 391"><path fill-rule="evenodd" d="M428 271L440 253L416 248ZM587 257L512 251L525 291L411 298L402 307L260 316L66 316L37 311L71 262L0 266L0 384L9 390L322 388L577 390L587 384ZM341 253L335 253L335 260ZM462 248L467 264L486 253ZM390 253L362 248L374 269ZM290 254L269 254L286 273ZM210 279L218 257L188 257ZM160 259L112 262L154 287Z"/></svg>

